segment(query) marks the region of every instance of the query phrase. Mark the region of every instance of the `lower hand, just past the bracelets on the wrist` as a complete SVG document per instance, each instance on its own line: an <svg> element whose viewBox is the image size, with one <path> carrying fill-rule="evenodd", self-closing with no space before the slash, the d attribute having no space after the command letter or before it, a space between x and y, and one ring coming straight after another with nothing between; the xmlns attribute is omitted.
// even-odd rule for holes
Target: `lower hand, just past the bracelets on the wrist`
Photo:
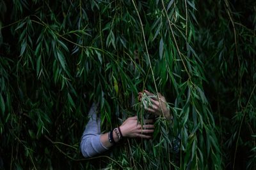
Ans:
<svg viewBox="0 0 256 170"><path fill-rule="evenodd" d="M154 132L153 120L144 120L145 125L138 122L138 117L129 117L120 126L122 135L127 138L151 138L150 134ZM148 124L149 123L149 124ZM151 123L151 124L150 124Z"/></svg>

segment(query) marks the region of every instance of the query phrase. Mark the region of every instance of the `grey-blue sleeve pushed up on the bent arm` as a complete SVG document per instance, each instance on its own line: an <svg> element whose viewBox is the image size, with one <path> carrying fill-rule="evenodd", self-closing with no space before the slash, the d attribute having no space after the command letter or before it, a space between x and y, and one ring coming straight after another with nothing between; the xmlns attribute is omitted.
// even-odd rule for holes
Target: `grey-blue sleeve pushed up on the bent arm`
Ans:
<svg viewBox="0 0 256 170"><path fill-rule="evenodd" d="M92 104L88 116L89 121L84 129L80 144L81 152L86 158L108 150L100 141L100 118L97 117L97 104Z"/></svg>

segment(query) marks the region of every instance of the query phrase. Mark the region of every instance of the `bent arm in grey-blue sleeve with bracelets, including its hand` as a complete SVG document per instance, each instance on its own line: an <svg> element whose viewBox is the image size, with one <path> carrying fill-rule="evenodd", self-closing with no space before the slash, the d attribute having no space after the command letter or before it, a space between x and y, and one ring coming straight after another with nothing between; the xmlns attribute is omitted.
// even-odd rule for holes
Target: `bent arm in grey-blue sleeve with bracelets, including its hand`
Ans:
<svg viewBox="0 0 256 170"><path fill-rule="evenodd" d="M113 143L109 141L109 133L100 134L100 118L97 118L97 104L93 104L89 112L90 120L86 125L81 139L81 152L84 157L93 157L106 152ZM146 125L141 125L137 117L129 117L125 122L116 128L124 138L151 138L154 132L153 120L144 120ZM119 131L120 130L120 131ZM118 142L116 132L112 132L113 140Z"/></svg>

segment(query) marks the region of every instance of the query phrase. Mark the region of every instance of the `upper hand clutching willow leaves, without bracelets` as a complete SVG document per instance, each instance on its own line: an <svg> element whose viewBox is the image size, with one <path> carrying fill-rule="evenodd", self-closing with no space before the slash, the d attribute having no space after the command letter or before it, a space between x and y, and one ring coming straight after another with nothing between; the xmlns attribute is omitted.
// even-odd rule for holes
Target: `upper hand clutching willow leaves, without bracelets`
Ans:
<svg viewBox="0 0 256 170"><path fill-rule="evenodd" d="M154 115L163 115L165 118L172 118L170 115L170 110L167 108L166 99L164 96L162 96L160 93L158 93L158 97L147 90L143 90L147 96L150 96L150 104L147 104L145 107L145 110L153 113ZM141 94L139 94L139 100L141 100Z"/></svg>

